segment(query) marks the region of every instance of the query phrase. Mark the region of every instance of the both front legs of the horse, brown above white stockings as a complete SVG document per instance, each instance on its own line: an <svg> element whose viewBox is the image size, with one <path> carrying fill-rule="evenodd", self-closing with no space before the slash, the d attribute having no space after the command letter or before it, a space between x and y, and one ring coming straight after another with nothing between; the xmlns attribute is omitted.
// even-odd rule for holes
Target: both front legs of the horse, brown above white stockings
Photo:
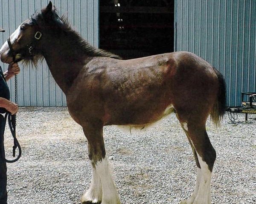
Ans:
<svg viewBox="0 0 256 204"><path fill-rule="evenodd" d="M82 195L81 203L120 204L105 153L103 127L98 124L86 124L83 125L83 130L88 140L93 177L89 189Z"/></svg>

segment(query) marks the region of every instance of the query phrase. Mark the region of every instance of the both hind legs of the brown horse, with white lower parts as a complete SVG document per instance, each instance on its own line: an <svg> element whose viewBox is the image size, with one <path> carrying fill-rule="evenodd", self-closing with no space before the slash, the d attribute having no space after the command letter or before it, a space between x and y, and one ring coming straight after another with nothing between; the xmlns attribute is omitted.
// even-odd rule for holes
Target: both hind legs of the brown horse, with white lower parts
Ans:
<svg viewBox="0 0 256 204"><path fill-rule="evenodd" d="M178 117L179 118L179 117ZM180 119L189 139L197 164L197 180L191 198L181 204L211 204L211 176L216 153L205 129L205 121Z"/></svg>

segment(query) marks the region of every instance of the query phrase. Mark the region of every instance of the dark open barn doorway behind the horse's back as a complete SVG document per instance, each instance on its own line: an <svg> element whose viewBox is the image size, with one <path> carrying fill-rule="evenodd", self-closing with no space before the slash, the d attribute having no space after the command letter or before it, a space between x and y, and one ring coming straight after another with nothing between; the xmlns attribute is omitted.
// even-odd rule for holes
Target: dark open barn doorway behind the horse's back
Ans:
<svg viewBox="0 0 256 204"><path fill-rule="evenodd" d="M174 51L174 0L100 0L99 48L123 59Z"/></svg>

